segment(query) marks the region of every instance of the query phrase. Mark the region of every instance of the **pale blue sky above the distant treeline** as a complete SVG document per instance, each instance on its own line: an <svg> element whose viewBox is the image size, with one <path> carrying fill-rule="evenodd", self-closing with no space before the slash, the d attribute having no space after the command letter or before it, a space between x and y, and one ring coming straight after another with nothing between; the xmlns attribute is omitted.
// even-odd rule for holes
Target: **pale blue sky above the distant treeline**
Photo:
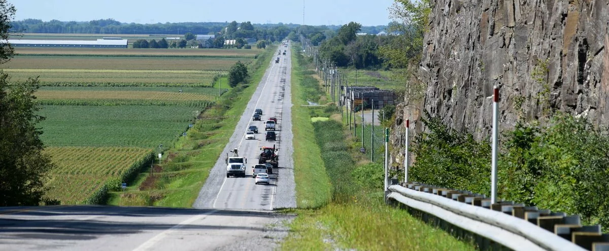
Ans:
<svg viewBox="0 0 609 251"><path fill-rule="evenodd" d="M8 0L15 20L91 21L112 18L123 23L251 21L362 26L387 25L393 0Z"/></svg>

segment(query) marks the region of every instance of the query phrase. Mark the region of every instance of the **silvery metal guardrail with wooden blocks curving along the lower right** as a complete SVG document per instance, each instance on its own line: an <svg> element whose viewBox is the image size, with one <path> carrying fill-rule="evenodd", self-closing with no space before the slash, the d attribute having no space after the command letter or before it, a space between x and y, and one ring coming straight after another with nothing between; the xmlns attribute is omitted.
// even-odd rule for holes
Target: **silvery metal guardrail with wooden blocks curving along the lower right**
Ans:
<svg viewBox="0 0 609 251"><path fill-rule="evenodd" d="M470 191L420 183L389 186L388 200L432 214L449 224L512 250L608 251L600 225L582 226L579 216L498 202Z"/></svg>

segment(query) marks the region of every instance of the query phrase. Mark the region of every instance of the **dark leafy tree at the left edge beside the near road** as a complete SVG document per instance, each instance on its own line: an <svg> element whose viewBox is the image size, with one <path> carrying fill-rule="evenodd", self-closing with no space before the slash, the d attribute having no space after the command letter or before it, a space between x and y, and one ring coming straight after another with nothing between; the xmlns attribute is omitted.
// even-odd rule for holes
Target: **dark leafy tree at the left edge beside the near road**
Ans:
<svg viewBox="0 0 609 251"><path fill-rule="evenodd" d="M16 10L0 0L0 11L0 37L6 39ZM0 62L5 63L14 51L8 43L1 47ZM37 115L37 89L38 79L11 83L0 71L0 207L39 205L47 174L54 168L43 154L42 131L36 127L44 119Z"/></svg>

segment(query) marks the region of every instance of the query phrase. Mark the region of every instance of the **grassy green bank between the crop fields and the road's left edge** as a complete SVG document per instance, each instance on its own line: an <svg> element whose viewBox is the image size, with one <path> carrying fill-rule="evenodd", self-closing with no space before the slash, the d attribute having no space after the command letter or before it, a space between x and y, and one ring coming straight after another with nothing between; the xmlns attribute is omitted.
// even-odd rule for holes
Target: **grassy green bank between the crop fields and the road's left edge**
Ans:
<svg viewBox="0 0 609 251"><path fill-rule="evenodd" d="M234 132L238 121L232 118L243 113L274 51L275 48L267 49L250 65L252 76L248 85L232 88L200 115L187 136L164 152L161 164L154 164L153 174L150 171L139 174L127 191L111 193L108 203L191 207ZM220 79L219 87L228 88L225 78Z"/></svg>

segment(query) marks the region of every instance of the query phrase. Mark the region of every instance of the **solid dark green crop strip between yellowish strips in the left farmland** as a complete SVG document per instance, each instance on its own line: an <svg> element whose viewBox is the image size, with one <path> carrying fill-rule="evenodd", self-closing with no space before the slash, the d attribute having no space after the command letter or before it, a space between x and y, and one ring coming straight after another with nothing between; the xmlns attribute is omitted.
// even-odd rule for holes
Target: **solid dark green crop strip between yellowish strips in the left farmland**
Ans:
<svg viewBox="0 0 609 251"><path fill-rule="evenodd" d="M46 146L134 146L154 148L175 140L197 108L180 106L44 105L39 126Z"/></svg>

